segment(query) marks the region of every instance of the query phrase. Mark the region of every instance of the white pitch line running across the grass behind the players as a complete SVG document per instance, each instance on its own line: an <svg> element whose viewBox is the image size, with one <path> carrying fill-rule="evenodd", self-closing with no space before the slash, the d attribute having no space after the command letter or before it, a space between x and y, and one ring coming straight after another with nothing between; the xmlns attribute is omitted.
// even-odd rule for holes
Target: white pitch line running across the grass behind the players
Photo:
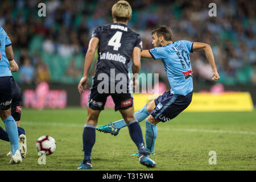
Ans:
<svg viewBox="0 0 256 182"><path fill-rule="evenodd" d="M22 121L22 125L30 126L59 126L59 127L84 127L84 123L54 123L54 122L31 122ZM126 127L125 127L126 128ZM177 129L177 128L164 128L158 127L158 130L162 131L185 131L195 133L222 133L222 134L245 134L245 135L256 135L253 131L230 131L230 130L204 130L204 129Z"/></svg>

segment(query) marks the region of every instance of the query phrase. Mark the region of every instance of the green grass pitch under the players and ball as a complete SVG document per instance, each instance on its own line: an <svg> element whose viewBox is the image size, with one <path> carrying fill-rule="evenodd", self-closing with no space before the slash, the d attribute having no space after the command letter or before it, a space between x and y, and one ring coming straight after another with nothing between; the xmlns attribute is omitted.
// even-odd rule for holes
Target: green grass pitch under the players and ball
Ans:
<svg viewBox="0 0 256 182"><path fill-rule="evenodd" d="M98 126L121 118L113 110L100 114ZM131 154L137 147L127 127L114 137L96 131L92 151L92 170L255 170L256 110L252 112L181 113L172 121L158 124L155 153L157 167L148 169ZM9 142L0 140L0 170L76 170L83 159L82 131L86 109L64 110L23 109L21 126L26 130L28 154L19 165L10 165L6 154ZM3 122L0 126L4 128ZM141 122L143 135L144 121ZM49 135L57 149L38 164L36 139ZM209 164L209 152L217 154L217 164Z"/></svg>

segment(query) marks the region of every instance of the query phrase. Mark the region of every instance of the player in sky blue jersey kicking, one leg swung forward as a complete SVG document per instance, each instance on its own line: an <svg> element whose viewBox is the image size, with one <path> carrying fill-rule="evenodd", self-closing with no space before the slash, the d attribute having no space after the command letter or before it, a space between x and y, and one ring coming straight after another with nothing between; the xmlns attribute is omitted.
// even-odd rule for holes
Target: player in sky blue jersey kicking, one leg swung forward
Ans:
<svg viewBox="0 0 256 182"><path fill-rule="evenodd" d="M167 122L175 118L186 109L192 100L193 72L190 62L190 53L202 51L205 53L212 67L212 80L220 79L215 65L212 49L208 44L179 40L172 42L172 31L167 26L159 26L152 32L154 48L143 50L141 57L160 59L163 62L171 90L164 92L153 101L148 102L141 110L134 113L141 122L146 118L146 150L154 155L157 136L156 124ZM98 131L117 135L126 124L123 119L97 127ZM134 154L138 155L138 154Z"/></svg>

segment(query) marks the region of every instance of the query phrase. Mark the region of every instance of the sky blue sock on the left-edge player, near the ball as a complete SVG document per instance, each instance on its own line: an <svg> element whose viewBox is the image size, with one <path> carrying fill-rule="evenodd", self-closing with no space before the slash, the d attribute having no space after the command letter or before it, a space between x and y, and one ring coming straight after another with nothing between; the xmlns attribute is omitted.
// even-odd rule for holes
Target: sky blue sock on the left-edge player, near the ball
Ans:
<svg viewBox="0 0 256 182"><path fill-rule="evenodd" d="M10 139L11 150L13 151L13 155L15 155L16 150L19 150L19 135L16 122L12 116L6 118L3 122L5 123L5 129Z"/></svg>

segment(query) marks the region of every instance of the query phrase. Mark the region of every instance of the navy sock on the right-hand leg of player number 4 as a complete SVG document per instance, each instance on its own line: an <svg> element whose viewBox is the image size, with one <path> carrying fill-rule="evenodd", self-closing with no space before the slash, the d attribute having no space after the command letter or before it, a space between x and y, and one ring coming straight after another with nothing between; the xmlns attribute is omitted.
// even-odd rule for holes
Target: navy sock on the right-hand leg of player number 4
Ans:
<svg viewBox="0 0 256 182"><path fill-rule="evenodd" d="M128 129L131 139L138 147L139 154L147 155L146 149L144 147L144 140L139 122L137 120L130 121L128 123Z"/></svg>

